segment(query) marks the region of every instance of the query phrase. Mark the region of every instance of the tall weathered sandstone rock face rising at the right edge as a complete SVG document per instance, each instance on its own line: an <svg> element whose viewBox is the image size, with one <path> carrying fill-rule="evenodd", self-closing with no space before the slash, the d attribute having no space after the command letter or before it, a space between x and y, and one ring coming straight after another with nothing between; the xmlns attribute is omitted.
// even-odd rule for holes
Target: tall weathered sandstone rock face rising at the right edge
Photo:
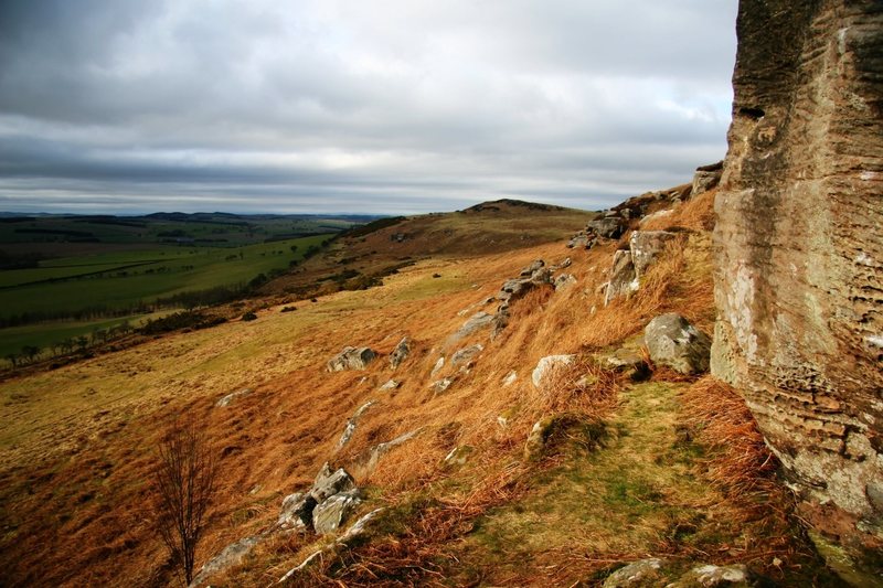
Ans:
<svg viewBox="0 0 883 588"><path fill-rule="evenodd" d="M883 547L883 6L742 0L715 210L712 371L804 517L871 577Z"/></svg>

